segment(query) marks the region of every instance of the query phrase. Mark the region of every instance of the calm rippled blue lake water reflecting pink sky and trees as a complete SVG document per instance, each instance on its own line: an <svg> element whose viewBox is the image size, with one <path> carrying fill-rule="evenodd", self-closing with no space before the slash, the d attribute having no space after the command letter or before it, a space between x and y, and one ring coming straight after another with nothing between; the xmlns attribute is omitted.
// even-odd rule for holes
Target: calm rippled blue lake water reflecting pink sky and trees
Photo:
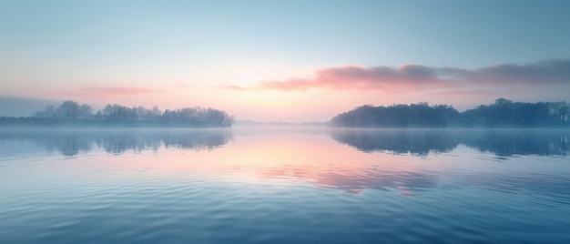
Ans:
<svg viewBox="0 0 570 244"><path fill-rule="evenodd" d="M570 243L568 130L0 131L0 243Z"/></svg>

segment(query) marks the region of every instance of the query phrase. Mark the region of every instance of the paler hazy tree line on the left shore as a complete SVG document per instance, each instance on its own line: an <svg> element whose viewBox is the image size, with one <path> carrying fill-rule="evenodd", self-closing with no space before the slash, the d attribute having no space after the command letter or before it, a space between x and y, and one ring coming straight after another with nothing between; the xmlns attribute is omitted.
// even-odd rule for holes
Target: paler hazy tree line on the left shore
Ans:
<svg viewBox="0 0 570 244"><path fill-rule="evenodd" d="M67 100L59 107L46 106L32 117L0 117L3 126L87 126L87 127L231 127L234 117L224 111L186 107L161 111L158 107L126 107L108 104L93 107Z"/></svg>

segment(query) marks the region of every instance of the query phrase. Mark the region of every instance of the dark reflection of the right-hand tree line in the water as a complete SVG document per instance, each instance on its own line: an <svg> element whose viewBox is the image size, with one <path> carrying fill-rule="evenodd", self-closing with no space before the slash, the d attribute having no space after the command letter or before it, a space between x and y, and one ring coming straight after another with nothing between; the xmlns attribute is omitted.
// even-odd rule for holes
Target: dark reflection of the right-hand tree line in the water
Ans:
<svg viewBox="0 0 570 244"><path fill-rule="evenodd" d="M490 151L497 156L514 154L567 155L569 130L549 129L338 129L331 137L361 151L391 150L427 155L451 151L459 144Z"/></svg>

